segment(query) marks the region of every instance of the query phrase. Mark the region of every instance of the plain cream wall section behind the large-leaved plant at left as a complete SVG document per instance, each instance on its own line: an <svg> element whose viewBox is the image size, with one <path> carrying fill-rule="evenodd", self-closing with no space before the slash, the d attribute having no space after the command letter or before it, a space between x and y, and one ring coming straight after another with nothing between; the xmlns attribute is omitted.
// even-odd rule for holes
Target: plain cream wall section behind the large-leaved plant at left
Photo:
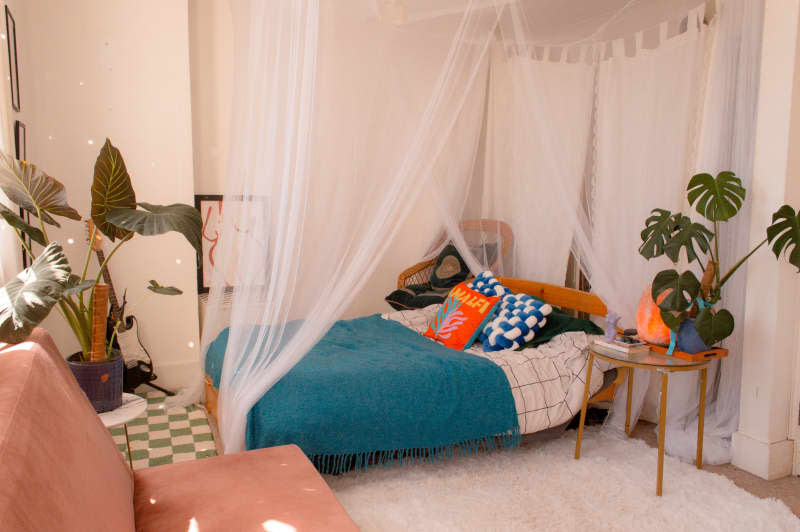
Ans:
<svg viewBox="0 0 800 532"><path fill-rule="evenodd" d="M138 201L193 204L186 0L8 4L17 21L19 116L28 128L28 159L62 181L71 205L87 216L94 162L109 137L125 158ZM59 221L60 230L48 228L50 237L65 245L73 269L80 269L87 249L83 225ZM75 243L68 245L68 238ZM188 385L197 377L199 354L191 246L176 233L136 236L112 259L110 271L117 290L128 290L158 383ZM149 279L184 294L153 295L133 307L150 293ZM45 325L65 356L78 350L55 312Z"/></svg>

